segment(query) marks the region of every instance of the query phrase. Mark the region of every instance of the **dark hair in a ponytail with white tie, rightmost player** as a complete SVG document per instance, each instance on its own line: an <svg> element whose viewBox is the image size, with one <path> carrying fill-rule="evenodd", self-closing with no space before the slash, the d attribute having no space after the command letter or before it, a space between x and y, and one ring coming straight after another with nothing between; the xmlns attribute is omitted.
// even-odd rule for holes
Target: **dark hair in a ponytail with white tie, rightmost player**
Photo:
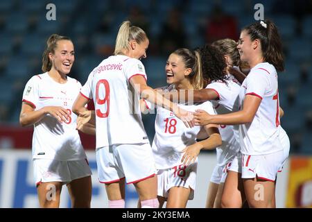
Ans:
<svg viewBox="0 0 312 222"><path fill-rule="evenodd" d="M277 71L284 71L284 55L277 26L266 19L250 24L244 30L250 35L250 40L260 40L263 59L274 65Z"/></svg>

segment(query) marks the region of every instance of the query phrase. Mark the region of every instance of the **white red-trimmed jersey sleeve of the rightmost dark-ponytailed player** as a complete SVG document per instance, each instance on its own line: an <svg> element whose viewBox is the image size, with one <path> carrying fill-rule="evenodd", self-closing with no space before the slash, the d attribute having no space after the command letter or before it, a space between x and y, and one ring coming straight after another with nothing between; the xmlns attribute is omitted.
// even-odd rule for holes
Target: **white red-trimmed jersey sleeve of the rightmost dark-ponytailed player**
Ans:
<svg viewBox="0 0 312 222"><path fill-rule="evenodd" d="M266 94L266 89L270 85L268 80L268 73L263 69L254 69L250 71L246 78L246 95L258 96L263 99Z"/></svg>

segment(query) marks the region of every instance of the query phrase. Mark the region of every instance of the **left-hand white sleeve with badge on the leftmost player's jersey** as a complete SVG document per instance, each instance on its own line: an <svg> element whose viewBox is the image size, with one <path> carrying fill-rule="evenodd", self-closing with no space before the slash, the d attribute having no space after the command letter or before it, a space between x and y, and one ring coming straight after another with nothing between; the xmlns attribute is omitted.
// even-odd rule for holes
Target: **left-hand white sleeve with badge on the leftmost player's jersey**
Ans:
<svg viewBox="0 0 312 222"><path fill-rule="evenodd" d="M40 77L33 76L28 82L26 83L24 92L23 92L23 102L28 103L34 109L36 108L38 101L39 101L39 84L40 84Z"/></svg>

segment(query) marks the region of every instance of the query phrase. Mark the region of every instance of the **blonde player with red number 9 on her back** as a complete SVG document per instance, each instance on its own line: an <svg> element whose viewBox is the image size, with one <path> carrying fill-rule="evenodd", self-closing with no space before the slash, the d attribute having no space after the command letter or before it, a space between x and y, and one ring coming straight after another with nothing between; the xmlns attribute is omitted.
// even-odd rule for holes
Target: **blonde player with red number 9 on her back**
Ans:
<svg viewBox="0 0 312 222"><path fill-rule="evenodd" d="M114 56L92 71L73 105L76 114L95 114L98 176L105 184L109 207L125 207L125 181L135 185L141 207L159 206L155 160L141 120L140 96L163 105L188 126L192 124L190 112L146 85L147 76L140 60L146 58L148 44L141 28L123 22ZM90 99L94 100L95 112L84 108Z"/></svg>

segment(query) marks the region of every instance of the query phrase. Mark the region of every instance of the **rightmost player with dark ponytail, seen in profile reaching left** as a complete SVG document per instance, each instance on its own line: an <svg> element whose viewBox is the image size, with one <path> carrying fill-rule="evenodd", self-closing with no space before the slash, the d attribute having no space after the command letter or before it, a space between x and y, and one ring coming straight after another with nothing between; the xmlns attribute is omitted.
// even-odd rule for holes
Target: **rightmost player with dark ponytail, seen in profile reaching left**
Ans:
<svg viewBox="0 0 312 222"><path fill-rule="evenodd" d="M285 160L277 84L277 71L284 70L284 58L277 27L270 20L250 24L241 31L238 49L241 60L251 68L241 85L241 110L214 116L198 110L194 119L197 125L240 124L242 178L248 205L272 207L275 178Z"/></svg>

